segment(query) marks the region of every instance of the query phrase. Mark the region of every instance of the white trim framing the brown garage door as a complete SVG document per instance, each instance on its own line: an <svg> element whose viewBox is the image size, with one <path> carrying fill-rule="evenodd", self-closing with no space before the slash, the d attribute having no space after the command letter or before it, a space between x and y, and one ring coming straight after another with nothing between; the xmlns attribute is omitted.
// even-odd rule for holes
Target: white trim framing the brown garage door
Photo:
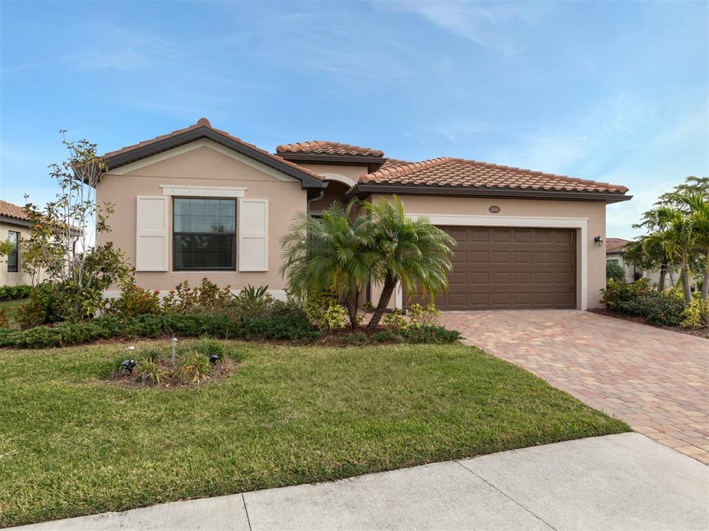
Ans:
<svg viewBox="0 0 709 531"><path fill-rule="evenodd" d="M581 230L581 298L579 310L588 309L588 218L543 218L535 216L466 216L459 214L406 214L408 218L428 218L433 225L460 225L463 227L528 227L573 228ZM396 308L402 308L401 286L396 287Z"/></svg>

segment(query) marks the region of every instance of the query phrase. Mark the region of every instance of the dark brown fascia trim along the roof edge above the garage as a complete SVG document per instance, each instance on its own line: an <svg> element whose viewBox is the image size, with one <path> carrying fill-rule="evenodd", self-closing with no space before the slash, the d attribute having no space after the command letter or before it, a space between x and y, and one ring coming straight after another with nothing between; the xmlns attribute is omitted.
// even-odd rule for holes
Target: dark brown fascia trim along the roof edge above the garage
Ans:
<svg viewBox="0 0 709 531"><path fill-rule="evenodd" d="M613 192L540 190L513 188L475 188L452 186L416 186L396 184L357 184L345 195L345 200L357 197L367 199L372 194L397 194L399 196L452 196L489 197L498 199L556 199L559 201L603 201L618 203L628 201L632 196Z"/></svg>

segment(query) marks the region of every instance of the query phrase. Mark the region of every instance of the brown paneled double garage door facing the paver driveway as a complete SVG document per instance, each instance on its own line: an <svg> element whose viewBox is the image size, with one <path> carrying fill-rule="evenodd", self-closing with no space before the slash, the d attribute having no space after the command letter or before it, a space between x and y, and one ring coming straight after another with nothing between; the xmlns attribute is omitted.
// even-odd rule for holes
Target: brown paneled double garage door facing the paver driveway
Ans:
<svg viewBox="0 0 709 531"><path fill-rule="evenodd" d="M441 227L458 242L442 310L574 308L571 229Z"/></svg>

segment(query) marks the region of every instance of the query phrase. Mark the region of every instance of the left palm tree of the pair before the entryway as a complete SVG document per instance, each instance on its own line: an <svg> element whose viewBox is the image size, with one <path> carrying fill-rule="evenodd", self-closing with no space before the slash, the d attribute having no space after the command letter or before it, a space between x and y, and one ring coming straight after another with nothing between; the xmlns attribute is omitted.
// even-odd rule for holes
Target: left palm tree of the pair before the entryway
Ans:
<svg viewBox="0 0 709 531"><path fill-rule="evenodd" d="M374 237L364 228L365 218L354 218L354 203L343 207L335 203L322 218L303 213L281 237L289 291L298 296L332 294L342 297L350 318L357 327L359 293L370 278L375 255Z"/></svg>

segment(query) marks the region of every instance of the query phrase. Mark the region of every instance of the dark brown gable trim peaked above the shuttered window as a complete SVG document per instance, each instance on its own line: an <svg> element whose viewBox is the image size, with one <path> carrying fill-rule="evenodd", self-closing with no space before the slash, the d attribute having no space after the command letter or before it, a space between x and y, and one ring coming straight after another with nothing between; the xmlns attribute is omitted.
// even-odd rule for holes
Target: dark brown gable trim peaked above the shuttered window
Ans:
<svg viewBox="0 0 709 531"><path fill-rule="evenodd" d="M268 167L277 169L279 172L289 175L298 179L302 183L303 188L323 188L323 181L316 179L315 177L302 172L297 168L292 167L290 164L285 164L280 162L276 156L268 155L259 150L255 150L241 142L236 142L232 138L226 135L218 133L212 128L199 127L191 130L187 130L184 133L179 133L177 135L171 136L169 138L164 138L162 140L157 140L155 142L150 142L147 145L136 147L133 150L118 153L118 155L113 155L113 157L108 157L106 163L108 164L108 169L115 169L125 164L130 164L137 160L145 159L146 157L151 157L152 155L157 155L157 153L172 150L174 147L179 147L184 144L189 144L189 142L194 142L195 140L200 140L201 138L208 138L213 142L217 142L224 147L228 147L230 150L241 153L257 162L261 162Z"/></svg>

